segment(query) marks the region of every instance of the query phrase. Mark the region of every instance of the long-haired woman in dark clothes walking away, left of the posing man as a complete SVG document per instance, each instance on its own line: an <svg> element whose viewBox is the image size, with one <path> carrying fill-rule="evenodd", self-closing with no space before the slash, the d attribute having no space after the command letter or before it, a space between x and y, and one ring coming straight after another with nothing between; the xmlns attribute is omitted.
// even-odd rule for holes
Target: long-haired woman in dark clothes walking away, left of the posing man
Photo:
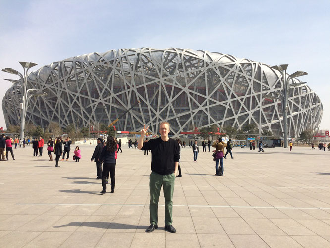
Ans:
<svg viewBox="0 0 330 248"><path fill-rule="evenodd" d="M107 144L103 147L102 152L100 154L100 162L103 162L103 170L102 170L102 191L100 194L105 194L107 191L107 183L106 178L110 172L111 178L111 192L114 193L115 187L115 170L116 170L116 159L115 153L117 151L117 143L115 142L112 136L107 137Z"/></svg>

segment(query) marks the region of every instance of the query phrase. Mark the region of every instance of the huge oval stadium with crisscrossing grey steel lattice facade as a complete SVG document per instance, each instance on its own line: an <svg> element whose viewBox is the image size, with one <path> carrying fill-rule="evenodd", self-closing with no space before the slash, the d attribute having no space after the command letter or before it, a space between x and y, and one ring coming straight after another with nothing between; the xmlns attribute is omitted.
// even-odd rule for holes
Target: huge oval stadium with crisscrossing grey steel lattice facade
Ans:
<svg viewBox="0 0 330 248"><path fill-rule="evenodd" d="M41 67L28 87L48 92L31 98L26 122L89 126L116 123L117 130L137 131L143 124L157 133L166 120L174 136L217 124L237 129L255 124L259 133L282 136L280 101L265 99L282 89L280 73L268 65L228 54L191 49L119 49L68 58ZM294 79L293 82L299 82ZM2 108L6 125L19 124L20 88L13 85ZM319 97L307 85L290 90L288 130L297 137L319 128Z"/></svg>

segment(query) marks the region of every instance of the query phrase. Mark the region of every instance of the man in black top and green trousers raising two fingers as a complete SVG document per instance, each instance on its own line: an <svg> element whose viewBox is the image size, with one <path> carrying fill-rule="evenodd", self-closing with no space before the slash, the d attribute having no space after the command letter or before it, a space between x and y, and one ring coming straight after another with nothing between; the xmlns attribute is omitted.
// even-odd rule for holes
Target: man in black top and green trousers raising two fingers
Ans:
<svg viewBox="0 0 330 248"><path fill-rule="evenodd" d="M146 232L152 232L158 228L158 200L163 186L165 198L165 230L175 233L172 226L172 209L175 175L179 166L180 148L178 142L168 137L170 132L169 123L162 122L159 126L160 138L149 140L143 143L144 135L149 126L141 130L141 137L138 142L138 149L151 150L151 174L149 177L150 189L150 226Z"/></svg>

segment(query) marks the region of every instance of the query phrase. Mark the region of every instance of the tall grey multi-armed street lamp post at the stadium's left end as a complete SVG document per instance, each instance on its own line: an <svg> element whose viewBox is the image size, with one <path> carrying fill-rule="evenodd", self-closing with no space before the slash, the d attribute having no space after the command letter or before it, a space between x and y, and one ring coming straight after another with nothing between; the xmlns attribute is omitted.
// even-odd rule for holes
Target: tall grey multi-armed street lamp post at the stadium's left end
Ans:
<svg viewBox="0 0 330 248"><path fill-rule="evenodd" d="M14 70L12 68L5 68L2 69L2 71L10 73L10 74L14 74L14 75L18 75L20 77L20 80L13 80L13 79L5 79L8 80L12 83L17 83L20 84L21 86L21 95L22 95L22 102L20 103L20 109L21 109L21 132L20 132L20 137L21 139L24 138L24 131L25 131L25 117L26 117L26 112L27 112L27 104L28 101L31 97L33 96L46 96L47 93L46 92L42 92L38 89L27 89L27 76L28 76L28 70L30 68L32 68L33 66L37 65L35 63L30 63L30 62L19 62L23 69L23 75L18 72L17 70ZM37 91L35 93L29 94L30 91Z"/></svg>

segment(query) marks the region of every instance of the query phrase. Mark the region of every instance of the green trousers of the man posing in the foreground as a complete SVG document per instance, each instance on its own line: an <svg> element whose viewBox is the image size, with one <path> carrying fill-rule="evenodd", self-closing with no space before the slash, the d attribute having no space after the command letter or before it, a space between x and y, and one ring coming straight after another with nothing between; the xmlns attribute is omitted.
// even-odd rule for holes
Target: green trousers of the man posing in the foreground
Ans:
<svg viewBox="0 0 330 248"><path fill-rule="evenodd" d="M149 189L150 189L150 224L157 225L158 222L158 200L163 186L163 194L165 198L165 226L172 225L172 210L173 210L173 193L174 193L174 181L175 174L160 175L155 172L151 172L149 177Z"/></svg>

